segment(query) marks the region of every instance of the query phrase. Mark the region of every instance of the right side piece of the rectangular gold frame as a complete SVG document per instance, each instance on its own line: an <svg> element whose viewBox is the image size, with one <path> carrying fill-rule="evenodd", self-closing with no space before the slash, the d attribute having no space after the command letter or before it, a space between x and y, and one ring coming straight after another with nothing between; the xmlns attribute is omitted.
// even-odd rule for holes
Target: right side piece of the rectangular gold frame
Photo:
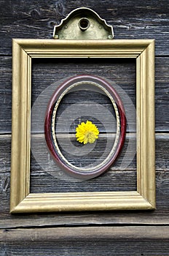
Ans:
<svg viewBox="0 0 169 256"><path fill-rule="evenodd" d="M138 56L136 72L137 187L155 208L154 40Z"/></svg>

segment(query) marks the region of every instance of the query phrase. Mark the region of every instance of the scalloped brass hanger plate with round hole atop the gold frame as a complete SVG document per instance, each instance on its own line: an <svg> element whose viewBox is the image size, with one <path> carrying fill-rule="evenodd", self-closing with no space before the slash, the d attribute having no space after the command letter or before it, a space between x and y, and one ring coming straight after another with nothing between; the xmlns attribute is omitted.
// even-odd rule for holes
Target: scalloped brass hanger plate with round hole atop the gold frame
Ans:
<svg viewBox="0 0 169 256"><path fill-rule="evenodd" d="M89 8L77 8L54 27L55 39L113 39L113 27Z"/></svg>

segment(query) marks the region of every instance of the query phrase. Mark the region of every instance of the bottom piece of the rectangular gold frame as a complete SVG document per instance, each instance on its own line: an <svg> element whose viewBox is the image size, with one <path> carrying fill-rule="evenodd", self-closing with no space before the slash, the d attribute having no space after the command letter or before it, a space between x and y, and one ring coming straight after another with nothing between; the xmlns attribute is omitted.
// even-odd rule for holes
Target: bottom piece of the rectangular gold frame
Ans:
<svg viewBox="0 0 169 256"><path fill-rule="evenodd" d="M68 194L68 195L66 195ZM25 197L11 213L49 211L152 210L138 192L37 193Z"/></svg>

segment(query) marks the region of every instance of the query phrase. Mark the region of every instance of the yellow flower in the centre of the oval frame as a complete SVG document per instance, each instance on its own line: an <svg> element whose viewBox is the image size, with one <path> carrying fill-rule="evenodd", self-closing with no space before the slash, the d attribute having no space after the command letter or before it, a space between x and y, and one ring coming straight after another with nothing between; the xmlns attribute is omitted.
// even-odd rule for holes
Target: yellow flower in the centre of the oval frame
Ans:
<svg viewBox="0 0 169 256"><path fill-rule="evenodd" d="M98 139L98 128L91 121L82 122L76 127L76 138L80 143L94 143Z"/></svg>

